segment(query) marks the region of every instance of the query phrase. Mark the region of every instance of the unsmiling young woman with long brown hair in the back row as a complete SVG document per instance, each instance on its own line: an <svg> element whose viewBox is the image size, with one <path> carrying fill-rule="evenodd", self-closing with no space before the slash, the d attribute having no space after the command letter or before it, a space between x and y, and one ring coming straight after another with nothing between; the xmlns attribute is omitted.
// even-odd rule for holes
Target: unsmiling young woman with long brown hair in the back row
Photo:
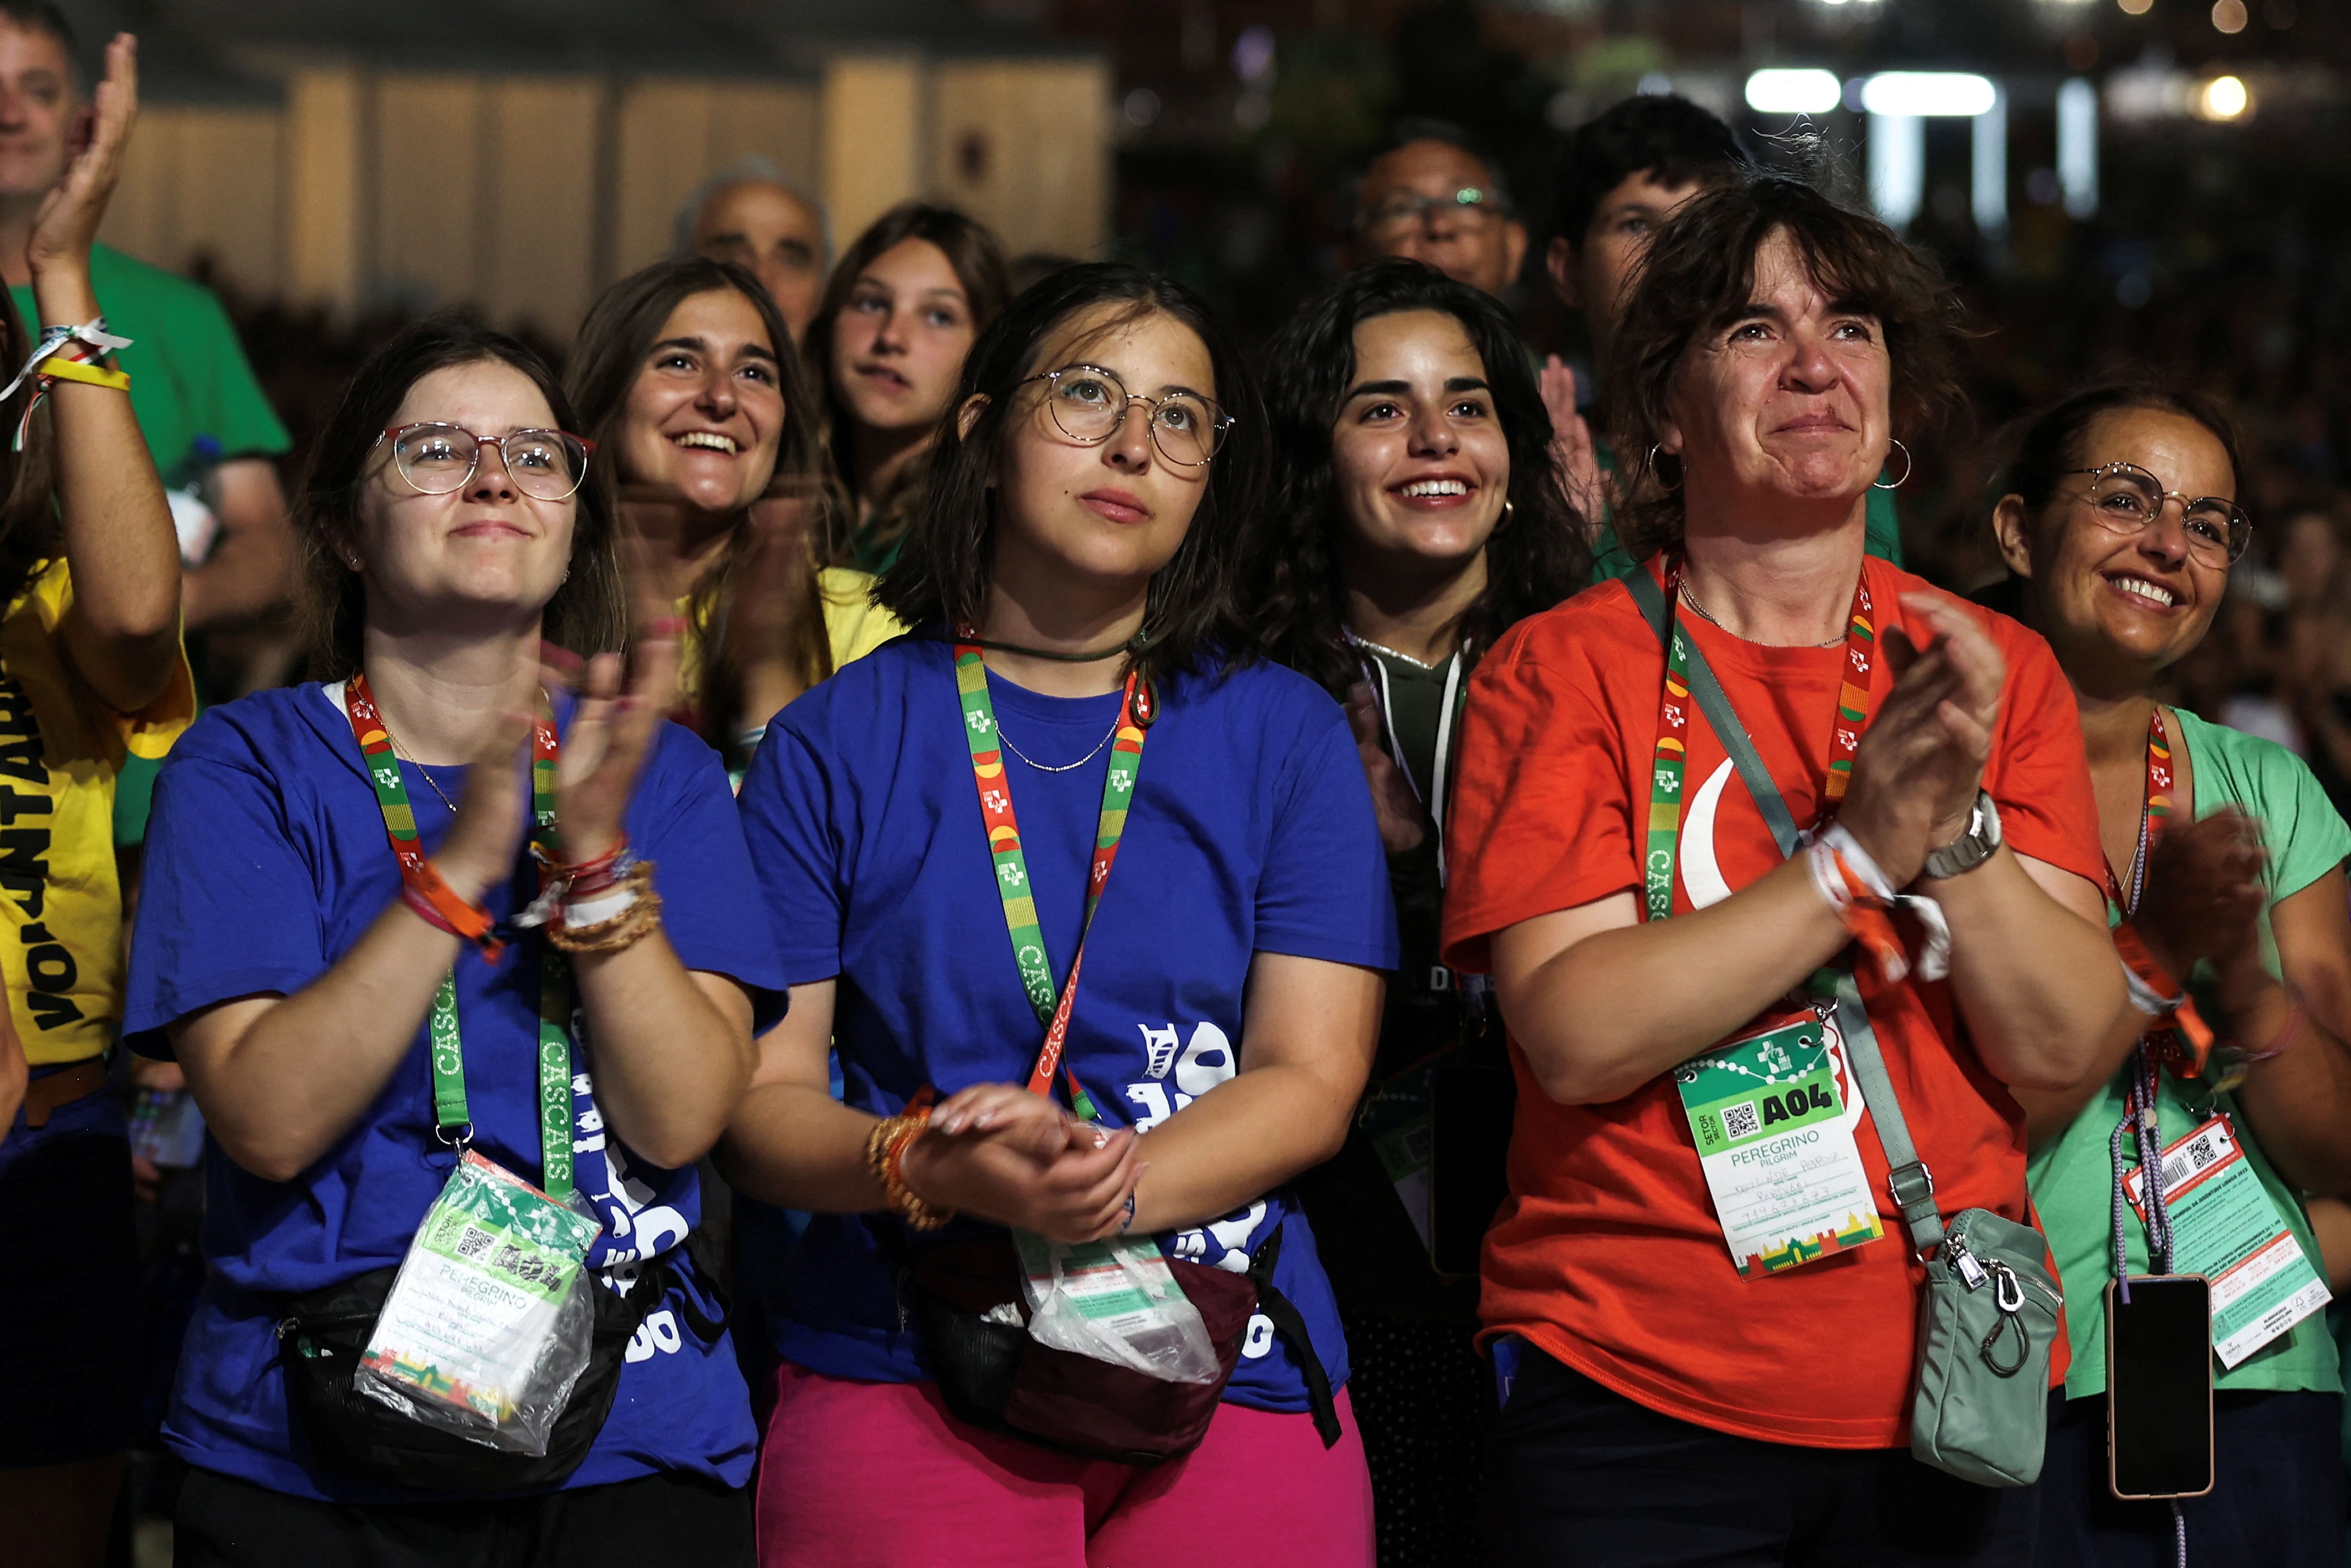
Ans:
<svg viewBox="0 0 2351 1568"><path fill-rule="evenodd" d="M842 564L879 574L898 559L964 355L1011 296L994 230L929 202L891 207L835 263L806 355L849 496Z"/></svg>

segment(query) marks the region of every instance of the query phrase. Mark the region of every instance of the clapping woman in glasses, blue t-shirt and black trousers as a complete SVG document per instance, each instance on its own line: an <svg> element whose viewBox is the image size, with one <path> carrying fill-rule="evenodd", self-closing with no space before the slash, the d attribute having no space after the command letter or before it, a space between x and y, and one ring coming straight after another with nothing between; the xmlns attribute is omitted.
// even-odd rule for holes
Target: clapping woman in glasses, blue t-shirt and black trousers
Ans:
<svg viewBox="0 0 2351 1568"><path fill-rule="evenodd" d="M531 350L463 322L369 360L301 503L329 684L212 710L158 785L125 1034L179 1058L212 1128L165 1422L181 1563L489 1561L484 1535L496 1561L750 1559L750 1403L686 1239L778 971L719 762L661 719L675 628L625 691L600 654L611 494L569 423ZM545 696L543 646L595 656L576 701ZM458 1150L600 1225L597 1342L543 1462L433 1458L320 1371L395 1321ZM435 1298L437 1354L475 1349L451 1324L480 1288Z"/></svg>

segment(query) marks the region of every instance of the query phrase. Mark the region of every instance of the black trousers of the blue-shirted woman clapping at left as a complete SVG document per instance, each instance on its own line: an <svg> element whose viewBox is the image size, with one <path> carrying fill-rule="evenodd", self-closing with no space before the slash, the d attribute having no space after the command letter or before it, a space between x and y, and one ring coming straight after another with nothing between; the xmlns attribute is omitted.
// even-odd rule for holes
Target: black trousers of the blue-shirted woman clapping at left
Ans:
<svg viewBox="0 0 2351 1568"><path fill-rule="evenodd" d="M658 1474L498 1502L317 1502L190 1469L176 1568L752 1568L750 1493Z"/></svg>

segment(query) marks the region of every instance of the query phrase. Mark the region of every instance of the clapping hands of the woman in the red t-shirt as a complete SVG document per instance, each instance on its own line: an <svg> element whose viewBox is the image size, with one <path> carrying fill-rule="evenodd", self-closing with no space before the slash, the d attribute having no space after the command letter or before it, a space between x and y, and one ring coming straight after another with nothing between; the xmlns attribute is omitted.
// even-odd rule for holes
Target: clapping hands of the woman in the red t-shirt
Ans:
<svg viewBox="0 0 2351 1568"><path fill-rule="evenodd" d="M1895 886L1968 830L2008 684L2001 649L1956 599L1911 592L1902 609L1933 642L1921 651L1902 628L1881 632L1878 656L1895 686L1862 736L1838 813Z"/></svg>

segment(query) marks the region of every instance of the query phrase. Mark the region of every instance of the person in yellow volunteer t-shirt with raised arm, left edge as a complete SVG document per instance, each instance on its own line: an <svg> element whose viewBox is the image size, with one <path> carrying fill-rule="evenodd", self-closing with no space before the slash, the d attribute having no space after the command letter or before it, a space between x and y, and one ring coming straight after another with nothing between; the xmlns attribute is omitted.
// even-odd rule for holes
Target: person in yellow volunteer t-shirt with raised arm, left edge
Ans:
<svg viewBox="0 0 2351 1568"><path fill-rule="evenodd" d="M113 797L122 759L162 755L193 710L172 512L89 284L136 108L127 35L92 108L89 146L59 155L63 179L14 235L38 346L0 303L0 381L42 350L42 374L0 397L0 1528L9 1561L38 1563L103 1561L139 1420L129 1128L106 1086ZM61 136L75 103L28 113L28 134Z"/></svg>

